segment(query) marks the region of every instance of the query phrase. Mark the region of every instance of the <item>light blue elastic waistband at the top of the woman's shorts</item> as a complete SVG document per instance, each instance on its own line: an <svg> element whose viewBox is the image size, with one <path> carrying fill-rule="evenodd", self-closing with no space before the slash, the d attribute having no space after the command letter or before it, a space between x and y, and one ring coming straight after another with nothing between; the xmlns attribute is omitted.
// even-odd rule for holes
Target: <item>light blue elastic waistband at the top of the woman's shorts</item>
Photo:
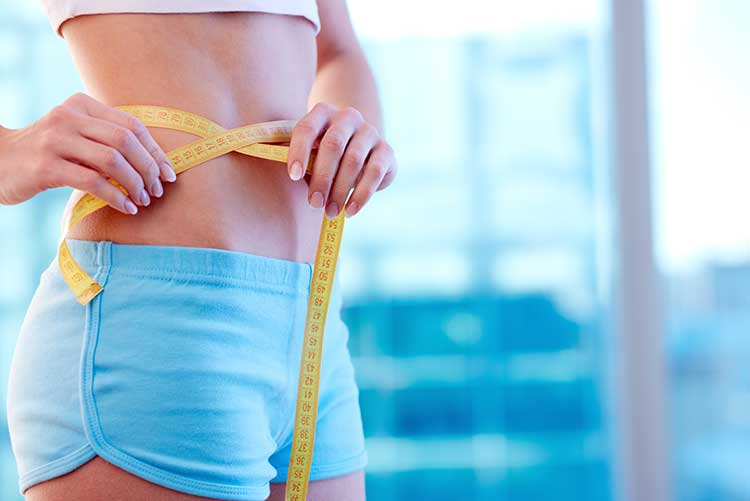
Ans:
<svg viewBox="0 0 750 501"><path fill-rule="evenodd" d="M110 266L134 273L189 274L276 285L308 292L313 265L225 249L119 244L67 238L83 267Z"/></svg>

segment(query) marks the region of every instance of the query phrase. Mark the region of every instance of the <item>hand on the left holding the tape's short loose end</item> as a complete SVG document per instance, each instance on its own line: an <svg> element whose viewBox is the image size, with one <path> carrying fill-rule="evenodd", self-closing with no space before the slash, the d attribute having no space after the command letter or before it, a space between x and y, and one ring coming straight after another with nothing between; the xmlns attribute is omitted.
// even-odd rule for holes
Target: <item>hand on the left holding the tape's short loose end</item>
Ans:
<svg viewBox="0 0 750 501"><path fill-rule="evenodd" d="M111 178L128 192L110 183ZM77 93L22 129L0 129L0 204L50 188L91 193L125 214L162 196L177 176L139 119Z"/></svg>

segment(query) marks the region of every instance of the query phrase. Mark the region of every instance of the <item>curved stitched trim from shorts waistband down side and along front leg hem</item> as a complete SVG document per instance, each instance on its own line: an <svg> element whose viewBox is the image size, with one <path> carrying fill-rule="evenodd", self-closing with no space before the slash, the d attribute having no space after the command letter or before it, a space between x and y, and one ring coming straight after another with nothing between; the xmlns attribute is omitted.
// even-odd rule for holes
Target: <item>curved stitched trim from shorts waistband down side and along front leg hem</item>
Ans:
<svg viewBox="0 0 750 501"><path fill-rule="evenodd" d="M102 287L106 287L111 274L109 252L110 245L105 244L104 253L102 253L106 253L106 256L104 257L105 262L101 264L95 277L95 280L100 282ZM103 282L101 281L102 278L104 279ZM101 304L105 296L106 288L86 305L84 339L81 354L79 393L81 397L82 421L84 432L92 449L113 464L128 470L131 473L137 474L142 478L157 482L162 486L189 490L192 494L206 497L217 497L217 495L237 495L242 496L243 498L247 496L261 496L261 499L265 499L270 492L267 484L264 487L234 487L230 485L192 480L183 477L182 475L169 473L161 468L144 463L107 441L101 428L93 385L94 356L101 328Z"/></svg>

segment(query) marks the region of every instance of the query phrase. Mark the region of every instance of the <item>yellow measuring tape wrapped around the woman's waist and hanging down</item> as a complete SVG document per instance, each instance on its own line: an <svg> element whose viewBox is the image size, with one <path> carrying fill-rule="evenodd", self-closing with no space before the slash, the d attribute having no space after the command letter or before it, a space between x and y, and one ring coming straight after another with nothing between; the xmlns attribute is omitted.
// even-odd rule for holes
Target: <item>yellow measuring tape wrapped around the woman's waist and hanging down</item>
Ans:
<svg viewBox="0 0 750 501"><path fill-rule="evenodd" d="M123 105L116 108L139 118L146 126L181 130L201 138L167 152L172 168L178 175L231 151L286 164L289 147L273 143L288 142L295 124L293 120L277 120L225 129L200 115L166 106ZM307 172L312 172L314 159L315 152L308 162ZM127 195L127 191L119 183L112 179L109 182ZM94 299L102 291L102 286L73 259L65 242L65 235L83 218L105 206L106 202L86 194L74 205L63 222L58 263L65 282L82 305ZM323 332L343 231L343 207L335 218L323 217L307 303L286 501L303 501L307 496L318 414Z"/></svg>

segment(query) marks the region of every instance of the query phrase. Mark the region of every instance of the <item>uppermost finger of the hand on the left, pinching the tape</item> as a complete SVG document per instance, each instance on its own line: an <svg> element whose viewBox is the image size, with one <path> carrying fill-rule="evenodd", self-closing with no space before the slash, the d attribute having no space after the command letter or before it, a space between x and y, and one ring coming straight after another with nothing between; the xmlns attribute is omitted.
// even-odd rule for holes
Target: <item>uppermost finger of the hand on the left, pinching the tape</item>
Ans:
<svg viewBox="0 0 750 501"><path fill-rule="evenodd" d="M116 123L130 130L159 166L161 178L169 182L177 179L167 154L162 150L141 120L130 113L108 106L83 93L76 94L72 99L74 99L73 102L77 106L90 116Z"/></svg>

